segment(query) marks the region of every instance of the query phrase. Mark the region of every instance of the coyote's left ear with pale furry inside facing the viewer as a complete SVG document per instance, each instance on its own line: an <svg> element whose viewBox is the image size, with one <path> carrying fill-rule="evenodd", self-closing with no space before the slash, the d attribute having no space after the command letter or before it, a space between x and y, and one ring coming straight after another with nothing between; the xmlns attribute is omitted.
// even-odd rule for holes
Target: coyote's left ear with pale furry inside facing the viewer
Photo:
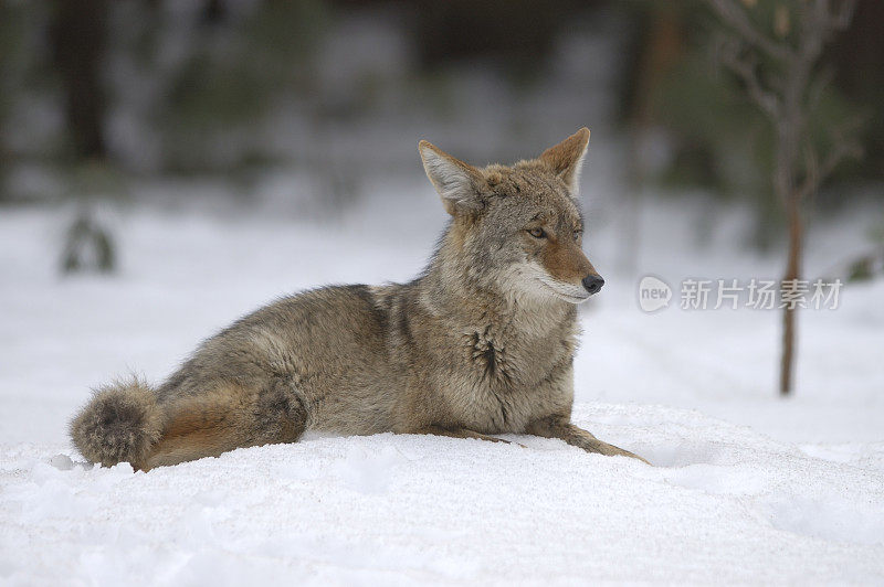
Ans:
<svg viewBox="0 0 884 587"><path fill-rule="evenodd" d="M480 190L483 179L476 168L451 157L425 140L418 143L418 150L423 161L423 170L442 198L449 214L454 216L457 212L482 207Z"/></svg>

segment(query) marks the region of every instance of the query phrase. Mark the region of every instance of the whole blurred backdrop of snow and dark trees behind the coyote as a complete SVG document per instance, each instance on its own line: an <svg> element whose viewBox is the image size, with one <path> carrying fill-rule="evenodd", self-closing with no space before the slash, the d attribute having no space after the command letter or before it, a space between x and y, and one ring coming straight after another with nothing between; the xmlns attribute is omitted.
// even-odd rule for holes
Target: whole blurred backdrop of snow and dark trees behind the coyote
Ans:
<svg viewBox="0 0 884 587"><path fill-rule="evenodd" d="M0 399L61 438L283 292L411 279L448 218L419 139L506 163L587 126L578 401L880 441L882 31L880 0L0 0ZM680 303L792 275L843 307Z"/></svg>

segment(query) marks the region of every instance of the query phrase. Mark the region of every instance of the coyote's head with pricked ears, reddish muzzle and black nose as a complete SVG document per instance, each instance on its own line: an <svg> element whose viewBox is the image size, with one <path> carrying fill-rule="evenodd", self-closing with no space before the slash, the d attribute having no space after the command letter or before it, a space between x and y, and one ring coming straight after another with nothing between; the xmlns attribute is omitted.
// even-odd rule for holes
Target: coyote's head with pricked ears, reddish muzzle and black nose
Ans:
<svg viewBox="0 0 884 587"><path fill-rule="evenodd" d="M581 128L537 159L480 169L421 141L423 168L453 217L439 260L513 298L580 303L599 291L577 205L588 143Z"/></svg>

